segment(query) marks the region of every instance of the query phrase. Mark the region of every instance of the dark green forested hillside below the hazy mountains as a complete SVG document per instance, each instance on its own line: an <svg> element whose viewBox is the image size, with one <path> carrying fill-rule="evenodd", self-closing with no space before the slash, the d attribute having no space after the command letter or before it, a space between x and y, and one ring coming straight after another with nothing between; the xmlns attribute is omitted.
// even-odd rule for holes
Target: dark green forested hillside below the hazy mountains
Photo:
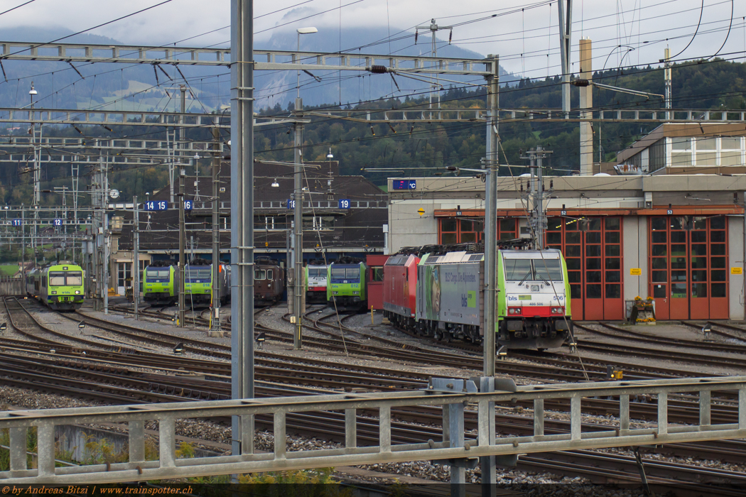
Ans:
<svg viewBox="0 0 746 497"><path fill-rule="evenodd" d="M695 109L746 109L746 65L724 60L691 61L677 64L673 70L673 105L676 108ZM389 77L380 75L380 77ZM663 93L662 69L652 67L613 70L596 73L594 80L643 90ZM442 107L468 108L485 107L483 89L472 90L451 88L442 92ZM578 89L571 89L572 106L577 108ZM594 89L595 107L638 108L662 107L659 98L646 99L626 95L606 89ZM404 100L374 101L361 104L365 109L427 108L427 93L419 93ZM502 86L501 108L542 109L560 107L560 81L521 80L513 86ZM308 107L307 110L339 108L332 106ZM345 109L348 107L345 107ZM354 110L354 108L353 108ZM287 115L289 109L276 106L263 110L263 115ZM360 115L360 118L364 118ZM604 159L613 159L615 153L630 145L640 136L648 133L654 125L640 124L598 124L594 125L595 160L598 160L599 136ZM125 127L118 133L110 133L103 127L79 127L85 136L128 136L133 139L154 139L165 137L163 130L142 127ZM292 127L272 125L257 127L255 137L257 159L275 159L292 162ZM23 133L24 130L18 131ZM579 133L577 123L560 124L541 122L502 122L499 133L502 151L501 163L523 165L520 151L542 145L554 151L551 167L554 174L570 174L578 168ZM45 127L45 136L81 135L72 127ZM210 139L210 130L189 130L189 139ZM342 174L365 174L378 184L385 183L386 177L401 175L423 175L444 172L446 166L475 167L479 165L485 150L485 125L472 121L447 124L376 124L371 129L364 122L345 121L330 118L313 118L304 131L304 159L326 160L331 148L334 159L339 160ZM224 139L228 140L227 131ZM1 147L0 147L1 148ZM210 159L201 161L200 174L209 175L207 168ZM28 203L32 185L30 174L19 174L23 164L4 166L0 174L0 195L5 203L17 205ZM363 168L393 168L397 171L361 171ZM289 172L289 171L287 171ZM43 165L42 189L54 186L69 186L70 166L67 164ZM83 174L83 171L81 171ZM188 174L192 174L189 169ZM278 174L283 171L278 170ZM507 174L507 171L501 171ZM87 183L83 178L81 185ZM121 198L129 200L133 194L144 196L145 191L162 188L168 184L167 167L157 166L114 166L110 173L110 186L122 192ZM60 205L60 198L54 194L45 195L45 203ZM86 195L81 197L87 203Z"/></svg>

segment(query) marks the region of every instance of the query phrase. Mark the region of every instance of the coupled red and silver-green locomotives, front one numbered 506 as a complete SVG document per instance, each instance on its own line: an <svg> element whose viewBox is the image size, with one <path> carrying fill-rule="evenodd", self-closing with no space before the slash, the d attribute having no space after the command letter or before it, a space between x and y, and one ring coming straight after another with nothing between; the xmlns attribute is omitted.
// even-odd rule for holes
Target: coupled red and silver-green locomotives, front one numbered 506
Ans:
<svg viewBox="0 0 746 497"><path fill-rule="evenodd" d="M568 338L567 268L559 250L498 250L497 284L492 332L498 346L548 349ZM483 247L404 249L384 265L383 285L384 316L395 326L439 340L481 343Z"/></svg>

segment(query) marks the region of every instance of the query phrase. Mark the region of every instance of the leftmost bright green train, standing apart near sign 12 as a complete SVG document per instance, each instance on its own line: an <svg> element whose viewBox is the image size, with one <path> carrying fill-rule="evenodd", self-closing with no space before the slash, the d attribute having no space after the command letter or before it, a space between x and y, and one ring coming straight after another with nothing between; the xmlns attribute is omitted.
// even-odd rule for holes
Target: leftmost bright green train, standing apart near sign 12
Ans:
<svg viewBox="0 0 746 497"><path fill-rule="evenodd" d="M85 300L85 271L72 262L58 262L26 273L26 294L56 311L74 311Z"/></svg>

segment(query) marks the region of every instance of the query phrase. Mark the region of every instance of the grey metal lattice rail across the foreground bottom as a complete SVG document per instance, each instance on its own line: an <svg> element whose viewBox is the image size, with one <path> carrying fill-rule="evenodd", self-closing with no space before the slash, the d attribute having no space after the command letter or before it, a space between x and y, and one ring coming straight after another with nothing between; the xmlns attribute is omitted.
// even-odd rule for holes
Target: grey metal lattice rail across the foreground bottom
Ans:
<svg viewBox="0 0 746 497"><path fill-rule="evenodd" d="M486 383L485 380L488 382ZM176 402L158 405L60 408L0 413L0 428L10 429L10 471L0 472L7 483L89 484L142 481L208 475L241 474L288 469L310 469L412 460L463 460L479 456L513 457L518 453L685 443L701 440L746 437L746 376L698 379L664 379L584 384L545 384L515 386L513 380L431 379L427 390L395 393L351 393L322 396L243 399L213 402ZM738 422L710 425L712 391L738 391ZM700 424L669 425L668 395L699 393ZM657 425L630 428L630 396L657 396ZM582 399L618 397L618 426L606 431L581 431ZM570 399L571 432L544 434L544 400ZM495 437L493 402L533 400L533 436ZM476 439L464 438L463 411L470 403L478 407ZM391 443L391 410L403 406L448 405L443 409L443 440L427 443ZM357 446L357 410L378 410L379 445ZM313 451L286 451L286 415L309 411L345 411L345 447ZM255 454L254 416L272 414L275 446L273 453ZM187 418L244 417L241 425L242 454L213 458L177 459L175 420ZM492 417L492 419L490 419ZM160 459L145 461L145 421L157 420ZM54 467L54 427L56 425L101 422L127 422L128 463ZM26 430L37 428L38 469L26 468ZM450 434L454 436L451 437ZM492 436L491 436L492 434ZM490 440L492 439L492 440ZM453 467L452 467L453 470Z"/></svg>

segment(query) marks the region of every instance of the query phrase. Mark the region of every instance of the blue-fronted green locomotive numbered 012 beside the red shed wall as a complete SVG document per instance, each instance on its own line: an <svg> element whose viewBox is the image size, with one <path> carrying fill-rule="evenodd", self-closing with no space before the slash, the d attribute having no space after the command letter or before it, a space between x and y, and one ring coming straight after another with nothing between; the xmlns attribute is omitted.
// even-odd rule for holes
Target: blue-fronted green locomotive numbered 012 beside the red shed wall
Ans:
<svg viewBox="0 0 746 497"><path fill-rule="evenodd" d="M348 258L327 267L327 303L337 310L360 310L368 306L368 266Z"/></svg>

